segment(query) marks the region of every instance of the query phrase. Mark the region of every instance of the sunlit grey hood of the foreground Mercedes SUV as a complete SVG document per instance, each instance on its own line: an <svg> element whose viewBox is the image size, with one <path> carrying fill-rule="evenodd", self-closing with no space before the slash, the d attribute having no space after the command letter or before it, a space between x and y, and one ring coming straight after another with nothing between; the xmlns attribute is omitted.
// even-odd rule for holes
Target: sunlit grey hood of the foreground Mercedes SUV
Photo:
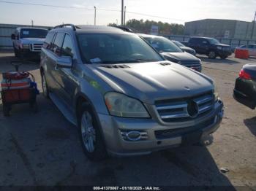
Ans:
<svg viewBox="0 0 256 191"><path fill-rule="evenodd" d="M164 63L164 64L161 64ZM110 66L110 65L105 65ZM212 80L197 71L168 61L156 63L89 65L92 71L113 88L146 104L168 98L181 98L212 90ZM118 67L121 66L121 67Z"/></svg>

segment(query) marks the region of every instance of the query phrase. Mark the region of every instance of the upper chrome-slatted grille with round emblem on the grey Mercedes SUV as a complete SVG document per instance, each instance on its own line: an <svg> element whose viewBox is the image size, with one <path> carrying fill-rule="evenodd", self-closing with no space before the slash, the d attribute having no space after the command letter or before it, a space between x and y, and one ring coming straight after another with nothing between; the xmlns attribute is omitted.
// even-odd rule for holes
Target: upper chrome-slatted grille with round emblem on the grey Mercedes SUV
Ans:
<svg viewBox="0 0 256 191"><path fill-rule="evenodd" d="M208 92L189 98L160 100L156 101L155 105L159 117L164 122L195 120L211 112L214 107L214 94Z"/></svg>

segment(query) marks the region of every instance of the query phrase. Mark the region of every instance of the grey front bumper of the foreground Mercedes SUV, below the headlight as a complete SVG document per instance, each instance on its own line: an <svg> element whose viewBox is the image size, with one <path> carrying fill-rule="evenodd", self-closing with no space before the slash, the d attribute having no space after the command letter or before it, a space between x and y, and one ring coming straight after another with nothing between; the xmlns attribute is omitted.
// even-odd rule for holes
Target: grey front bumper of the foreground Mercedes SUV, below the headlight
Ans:
<svg viewBox="0 0 256 191"><path fill-rule="evenodd" d="M198 122L186 125L162 125L153 119L129 119L98 114L105 144L111 155L144 155L153 151L193 144L203 136L214 133L222 121L223 104L217 101L212 112ZM211 122L210 122L211 121ZM191 129L189 129L191 128ZM139 131L146 133L146 139L127 141L124 132ZM157 132L164 132L159 136ZM170 131L170 132L168 132ZM172 131L177 131L173 134Z"/></svg>

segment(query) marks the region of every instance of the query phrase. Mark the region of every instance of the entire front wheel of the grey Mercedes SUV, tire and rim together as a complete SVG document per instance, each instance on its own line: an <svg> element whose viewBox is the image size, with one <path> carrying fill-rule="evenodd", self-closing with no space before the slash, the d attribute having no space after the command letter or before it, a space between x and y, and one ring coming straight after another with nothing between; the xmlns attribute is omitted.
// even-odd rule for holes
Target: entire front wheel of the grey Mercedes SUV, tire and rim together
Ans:
<svg viewBox="0 0 256 191"><path fill-rule="evenodd" d="M82 104L79 116L78 127L80 129L80 140L86 157L91 161L104 160L108 155L102 132L89 104Z"/></svg>

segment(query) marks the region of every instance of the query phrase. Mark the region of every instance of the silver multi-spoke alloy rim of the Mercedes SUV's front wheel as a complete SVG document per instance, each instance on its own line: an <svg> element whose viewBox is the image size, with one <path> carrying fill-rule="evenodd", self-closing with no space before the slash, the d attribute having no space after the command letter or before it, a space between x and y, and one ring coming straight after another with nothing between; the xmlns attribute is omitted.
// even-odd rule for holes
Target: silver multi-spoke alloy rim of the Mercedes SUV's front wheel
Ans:
<svg viewBox="0 0 256 191"><path fill-rule="evenodd" d="M95 129L92 124L92 117L89 112L84 112L81 118L81 132L83 145L88 152L94 152L95 149Z"/></svg>

